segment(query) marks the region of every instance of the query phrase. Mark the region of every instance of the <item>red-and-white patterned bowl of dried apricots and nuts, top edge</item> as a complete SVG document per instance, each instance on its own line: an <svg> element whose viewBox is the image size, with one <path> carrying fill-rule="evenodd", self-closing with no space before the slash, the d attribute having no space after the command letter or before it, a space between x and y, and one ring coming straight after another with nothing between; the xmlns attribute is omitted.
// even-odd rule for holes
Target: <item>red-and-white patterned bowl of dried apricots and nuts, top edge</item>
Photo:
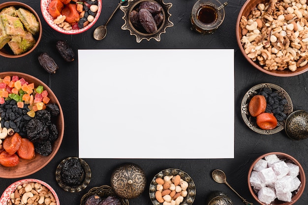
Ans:
<svg viewBox="0 0 308 205"><path fill-rule="evenodd" d="M79 34L97 21L102 0L41 0L41 11L47 24L64 34Z"/></svg>

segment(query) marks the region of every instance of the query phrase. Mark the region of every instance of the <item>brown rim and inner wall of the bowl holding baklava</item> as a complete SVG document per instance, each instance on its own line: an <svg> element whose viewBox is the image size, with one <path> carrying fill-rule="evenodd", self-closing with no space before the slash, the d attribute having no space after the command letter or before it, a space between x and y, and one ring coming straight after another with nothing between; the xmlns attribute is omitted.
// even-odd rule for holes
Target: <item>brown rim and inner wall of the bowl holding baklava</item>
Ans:
<svg viewBox="0 0 308 205"><path fill-rule="evenodd" d="M29 53L31 53L36 47L37 45L39 44L40 40L41 40L41 37L42 37L42 24L41 24L41 20L39 18L39 16L37 15L36 11L31 8L29 5L25 4L25 3L22 3L22 2L18 2L18 1L8 1L8 2L4 2L4 3L1 3L0 4L0 11L3 9L3 8L7 8L9 6L14 6L16 9L18 8L24 8L24 9L27 9L29 11L31 11L32 14L34 14L34 16L36 17L36 20L38 21L39 23L39 33L34 37L34 39L36 40L36 43L35 45L32 47L32 49L30 49L29 51L27 52L24 52L22 54L19 54L19 55L15 55L13 53L13 51L9 48L8 45L5 45L1 50L0 50L0 55L2 55L3 57L7 57L7 58L18 58L18 57L23 57L25 55L28 55Z"/></svg>

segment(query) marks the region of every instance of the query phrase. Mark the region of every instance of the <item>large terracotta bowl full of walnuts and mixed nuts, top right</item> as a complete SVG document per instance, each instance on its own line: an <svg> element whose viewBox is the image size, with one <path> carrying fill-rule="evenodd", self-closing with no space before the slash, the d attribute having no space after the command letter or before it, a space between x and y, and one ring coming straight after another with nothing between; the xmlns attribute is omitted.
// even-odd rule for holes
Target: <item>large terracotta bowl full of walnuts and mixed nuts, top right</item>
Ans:
<svg viewBox="0 0 308 205"><path fill-rule="evenodd" d="M297 19L301 19L297 15L300 15L299 11L302 11L304 9L302 9L302 10L298 9L298 11L295 11L297 9L294 9L295 13L294 13L294 11L292 13L292 16L294 16L294 17L293 17L293 19L289 20L288 17L290 15L288 17L286 15L287 15L287 12L291 12L291 11L285 11L285 12L283 11L282 12L282 11L279 11L277 8L275 8L273 13L277 14L276 16L275 15L269 15L270 12L266 13L266 12L268 12L267 5L268 5L269 2L271 2L271 0L247 0L244 3L244 5L243 5L243 7L242 7L242 9L241 9L241 11L239 13L239 16L238 16L238 19L237 19L237 24L236 24L236 39L237 39L238 46L239 46L241 52L243 53L244 57L246 58L246 60L254 68L262 71L263 73L266 73L266 74L269 74L269 75L272 75L272 76L277 76L277 77L291 77L291 76L296 76L296 75L303 74L306 71L308 71L308 63L307 63L308 62L308 55L307 56L306 55L305 56L298 56L298 55L297 56L290 56L289 54L287 54L287 56L285 56L282 59L280 54L282 52L285 52L285 53L291 53L291 54L293 53L293 55L294 54L296 55L296 53L297 53L296 50L297 49L299 51L301 50L300 51L301 53L305 53L306 51L308 51L308 49L307 49L308 47L306 47L307 43L304 42L306 40L304 40L301 43L303 45L305 44L304 46L299 44L301 46L300 48L299 48L299 46L298 47L295 46L296 42L294 42L294 44L293 44L292 41L294 39L291 39L291 35L293 35L292 32L293 31L295 32L296 29L298 29L298 28L295 28L296 26L289 25L289 24L292 24L292 21L295 22L295 21L297 21ZM283 2L283 0L278 0L278 2ZM259 8L258 8L258 6L259 6ZM300 7L300 5L298 7ZM251 15L252 11L254 12L253 17ZM280 13L278 13L278 12L281 12L281 14L282 13L283 14L280 16ZM260 14L260 16L258 16L259 14ZM268 16L266 16L266 17L262 16L263 14L264 15L268 14ZM254 33L254 34L256 34L256 36L257 36L256 38L259 38L259 39L261 38L261 41L259 41L258 43L256 43L256 45L254 45L255 48L253 48L254 50L252 49L253 52L252 51L248 51L249 49L247 47L249 47L250 44L253 45L254 42L256 42L256 40L251 40L252 37L250 37L249 40L251 40L251 41L247 42L246 39L248 39L248 36L250 34L252 34L255 29L251 28L252 30L248 30L248 29L244 29L243 30L243 27L246 28L246 26L243 26L243 19L242 19L243 16L246 18L246 21L250 21L250 22L251 22L251 20L253 22L256 22L256 20L259 19L259 20L257 20L259 22L258 27L256 28L256 32L257 33ZM279 18L278 18L278 16L279 16ZM271 18L273 18L274 21ZM274 24L272 24L275 21L276 22L280 21L280 23L282 25L280 27L279 26L275 27ZM279 23L279 25L280 25L280 23ZM253 23L253 24L256 25L256 23ZM287 28L287 26L288 26L288 28ZM292 30L291 30L291 28L289 28L291 26L293 27ZM302 26L302 27L304 28L304 30L305 30L304 32L305 32L305 35L306 35L306 33L307 33L306 31L308 31L308 27L307 26ZM269 29L269 28L272 29L272 31L274 29L276 29L277 30L277 34L273 34L273 32L271 32L272 35L268 35L267 36L267 35L262 35L263 32L258 33L259 31L262 31L262 29ZM259 31L257 31L257 30L259 30ZM248 32L248 35L247 35L247 32ZM259 34L261 34L261 36ZM243 39L243 36L246 37L245 40ZM275 39L270 39L270 36L273 36L272 38L277 38L278 40L275 41ZM280 38L279 38L279 36L280 36ZM287 37L289 37L289 38L287 39ZM283 39L283 38L284 38L284 41L282 42L282 44L278 44L279 41L281 41L281 39ZM300 40L301 38L297 37L296 39ZM287 41L290 41L290 42L286 43ZM271 46L271 48L266 46L267 43L270 44L268 46ZM259 49L258 46L261 47L260 50L264 51L263 54L261 54L261 51L258 50ZM288 47L288 51L286 51L287 47ZM294 50L295 52L291 51L291 49ZM271 51L270 52L270 54L272 54L271 58L268 58L267 55L265 55L265 53L268 53L265 50ZM289 51L291 51L291 52L289 52ZM253 53L255 53L255 52L258 52L258 54L253 56ZM279 53L279 54L277 54L277 53ZM291 58L294 58L295 60L288 59L289 56ZM299 58L299 59L297 59L297 58ZM269 60L269 61L267 61L268 63L265 63L266 60ZM291 61L293 61L293 62L290 64L289 62L291 62ZM303 63L301 63L302 61L303 61ZM296 65L296 63L299 63L301 65L300 66L297 65L296 68L295 68L294 65ZM291 66L291 67L289 67L289 66Z"/></svg>

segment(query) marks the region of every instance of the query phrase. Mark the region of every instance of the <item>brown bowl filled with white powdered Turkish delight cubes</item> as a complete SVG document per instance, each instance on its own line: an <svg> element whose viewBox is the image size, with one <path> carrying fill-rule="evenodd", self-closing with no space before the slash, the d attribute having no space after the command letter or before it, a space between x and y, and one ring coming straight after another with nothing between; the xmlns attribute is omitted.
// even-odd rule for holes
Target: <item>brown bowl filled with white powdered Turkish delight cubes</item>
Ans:
<svg viewBox="0 0 308 205"><path fill-rule="evenodd" d="M300 162L280 152L262 154L248 171L248 188L261 205L293 205L302 196L306 176Z"/></svg>

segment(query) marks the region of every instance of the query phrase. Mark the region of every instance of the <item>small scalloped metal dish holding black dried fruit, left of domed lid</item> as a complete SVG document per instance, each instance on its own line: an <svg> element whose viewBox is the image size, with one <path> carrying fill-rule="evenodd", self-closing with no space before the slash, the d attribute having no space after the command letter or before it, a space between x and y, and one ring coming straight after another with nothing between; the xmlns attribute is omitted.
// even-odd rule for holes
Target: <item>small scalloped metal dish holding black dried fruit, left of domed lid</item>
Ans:
<svg viewBox="0 0 308 205"><path fill-rule="evenodd" d="M56 170L59 186L68 192L80 192L91 181L91 169L88 163L78 157L63 159Z"/></svg>

